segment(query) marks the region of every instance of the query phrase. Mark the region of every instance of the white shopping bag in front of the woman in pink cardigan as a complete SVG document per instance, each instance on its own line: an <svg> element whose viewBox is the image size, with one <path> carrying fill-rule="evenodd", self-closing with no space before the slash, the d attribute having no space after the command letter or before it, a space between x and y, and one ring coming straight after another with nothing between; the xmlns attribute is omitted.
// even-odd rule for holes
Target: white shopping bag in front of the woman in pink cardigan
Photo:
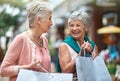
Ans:
<svg viewBox="0 0 120 81"><path fill-rule="evenodd" d="M68 73L43 73L21 69L17 81L72 81L73 74Z"/></svg>

